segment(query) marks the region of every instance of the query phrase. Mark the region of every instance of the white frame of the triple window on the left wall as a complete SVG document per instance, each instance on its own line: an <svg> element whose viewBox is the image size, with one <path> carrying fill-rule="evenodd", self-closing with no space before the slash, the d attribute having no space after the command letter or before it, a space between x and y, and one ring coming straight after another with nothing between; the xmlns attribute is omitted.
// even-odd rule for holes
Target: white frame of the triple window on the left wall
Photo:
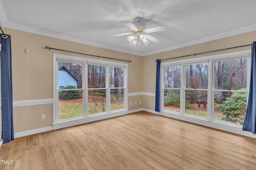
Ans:
<svg viewBox="0 0 256 170"><path fill-rule="evenodd" d="M81 63L83 66L83 84L81 89L76 90L84 90L83 92L83 115L80 117L74 117L69 119L58 119L58 61L71 62L71 63ZM110 106L107 106L107 110L104 113L96 113L93 115L88 115L88 88L87 86L87 69L88 64L102 65L106 66L106 99L107 105L110 105L110 87L109 87L109 67L116 66L124 68L124 109L118 109L114 111L110 111ZM53 54L53 125L54 127L66 127L67 125L81 124L90 122L91 120L100 120L106 119L108 117L113 117L118 114L123 114L128 110L128 88L127 88L127 78L128 78L128 64L126 63L117 63L112 61L103 61L96 59L88 59L83 57L75 57L70 55L61 55L61 54ZM99 88L100 89L100 88ZM105 88L104 88L105 89ZM67 123L69 122L69 123ZM54 128L58 129L58 128Z"/></svg>

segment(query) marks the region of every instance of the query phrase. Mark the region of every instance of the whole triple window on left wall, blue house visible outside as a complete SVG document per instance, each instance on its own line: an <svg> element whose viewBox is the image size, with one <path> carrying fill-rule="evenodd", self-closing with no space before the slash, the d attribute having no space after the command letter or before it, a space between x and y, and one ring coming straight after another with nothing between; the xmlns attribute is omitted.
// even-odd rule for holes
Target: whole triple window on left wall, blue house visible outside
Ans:
<svg viewBox="0 0 256 170"><path fill-rule="evenodd" d="M127 109L127 64L54 54L54 123Z"/></svg>

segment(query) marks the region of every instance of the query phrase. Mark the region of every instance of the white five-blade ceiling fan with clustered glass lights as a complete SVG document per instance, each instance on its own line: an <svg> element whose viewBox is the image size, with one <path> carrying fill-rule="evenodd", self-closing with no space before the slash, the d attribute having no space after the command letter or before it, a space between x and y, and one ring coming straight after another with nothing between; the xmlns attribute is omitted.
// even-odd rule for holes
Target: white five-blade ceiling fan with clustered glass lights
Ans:
<svg viewBox="0 0 256 170"><path fill-rule="evenodd" d="M128 27L132 29L131 33L122 33L122 34L116 34L116 35L110 35L110 37L116 37L121 35L130 35L127 37L127 40L131 43L132 46L136 46L138 38L142 40L142 42L147 45L149 43L148 40L154 42L154 43L160 43L160 40L156 39L155 37L152 37L148 35L148 33L158 32L158 31L165 31L167 30L166 26L160 26L160 27L154 27L149 29L144 29L139 25L142 18L136 18L135 19L138 23L138 26L133 25L131 22L124 22Z"/></svg>

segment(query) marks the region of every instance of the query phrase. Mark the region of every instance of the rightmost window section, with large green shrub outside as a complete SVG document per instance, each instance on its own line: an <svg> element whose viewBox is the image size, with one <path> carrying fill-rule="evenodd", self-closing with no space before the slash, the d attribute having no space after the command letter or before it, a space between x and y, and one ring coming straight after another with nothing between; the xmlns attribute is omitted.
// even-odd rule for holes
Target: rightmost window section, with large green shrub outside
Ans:
<svg viewBox="0 0 256 170"><path fill-rule="evenodd" d="M246 113L247 58L216 61L213 66L214 120L242 125Z"/></svg>

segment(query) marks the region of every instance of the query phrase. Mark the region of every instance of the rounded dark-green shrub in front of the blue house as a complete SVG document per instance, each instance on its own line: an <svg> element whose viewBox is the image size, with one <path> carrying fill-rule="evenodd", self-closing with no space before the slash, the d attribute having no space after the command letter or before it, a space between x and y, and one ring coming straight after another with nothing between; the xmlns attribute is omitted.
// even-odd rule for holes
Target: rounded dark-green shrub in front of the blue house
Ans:
<svg viewBox="0 0 256 170"><path fill-rule="evenodd" d="M76 89L76 86L66 86L63 89ZM65 90L60 91L59 96L62 98L62 100L72 100L72 99L79 99L80 98L80 92L79 90Z"/></svg>

